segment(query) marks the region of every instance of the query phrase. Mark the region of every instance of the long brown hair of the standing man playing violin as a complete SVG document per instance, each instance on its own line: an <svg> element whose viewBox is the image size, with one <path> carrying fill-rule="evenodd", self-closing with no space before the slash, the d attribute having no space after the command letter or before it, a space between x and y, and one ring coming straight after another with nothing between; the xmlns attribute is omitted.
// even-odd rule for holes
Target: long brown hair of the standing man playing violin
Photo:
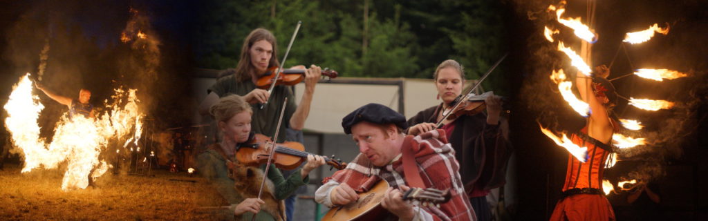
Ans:
<svg viewBox="0 0 708 221"><path fill-rule="evenodd" d="M253 65L251 65L251 55L249 55L249 50L251 46L259 40L266 40L273 45L273 54L271 54L270 62L268 67L278 66L278 47L275 44L275 35L270 33L270 30L265 28L256 28L251 31L251 33L246 36L244 40L244 45L241 46L241 59L239 64L236 64L236 81L243 82L251 79L251 72L253 72Z"/></svg>

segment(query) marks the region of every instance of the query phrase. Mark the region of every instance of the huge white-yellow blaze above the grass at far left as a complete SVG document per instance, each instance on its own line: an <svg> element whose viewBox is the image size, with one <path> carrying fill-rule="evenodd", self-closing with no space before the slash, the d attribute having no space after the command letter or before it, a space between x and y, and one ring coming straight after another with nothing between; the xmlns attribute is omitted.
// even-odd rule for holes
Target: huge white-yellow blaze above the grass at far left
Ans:
<svg viewBox="0 0 708 221"><path fill-rule="evenodd" d="M98 160L98 155L107 147L108 141L112 138L121 139L124 134L118 129L133 128L135 124L135 121L120 118L134 119L142 115L135 104L137 98L128 98L129 101L124 107L118 106L118 101L113 106L107 105L113 113L120 113L120 116L103 113L94 120L82 115L69 118L65 114L54 128L52 142L47 143L39 136L40 127L37 122L44 106L39 97L32 94L32 82L28 76L29 74L21 78L4 106L8 113L5 119L6 128L11 132L13 144L22 150L25 157L22 172L26 173L39 167L55 169L60 163L67 162L62 190L86 188L89 185L89 175L98 177L108 170L107 164ZM118 100L123 100L125 96L127 95L116 91L115 97L119 98ZM129 106L131 103L132 106ZM130 124L121 124L122 122Z"/></svg>

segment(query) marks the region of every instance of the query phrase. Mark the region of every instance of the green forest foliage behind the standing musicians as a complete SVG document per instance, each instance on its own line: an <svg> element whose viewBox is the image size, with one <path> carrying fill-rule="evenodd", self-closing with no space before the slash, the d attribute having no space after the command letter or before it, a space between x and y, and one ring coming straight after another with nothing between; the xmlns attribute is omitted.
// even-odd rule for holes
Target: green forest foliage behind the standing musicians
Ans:
<svg viewBox="0 0 708 221"><path fill-rule="evenodd" d="M476 79L506 52L497 1L210 0L202 6L196 51L203 68L234 67L244 38L259 27L278 38L282 60L297 21L302 27L285 67L316 64L346 77L430 78L440 62L455 59ZM495 75L503 76L494 73L486 89L503 87Z"/></svg>

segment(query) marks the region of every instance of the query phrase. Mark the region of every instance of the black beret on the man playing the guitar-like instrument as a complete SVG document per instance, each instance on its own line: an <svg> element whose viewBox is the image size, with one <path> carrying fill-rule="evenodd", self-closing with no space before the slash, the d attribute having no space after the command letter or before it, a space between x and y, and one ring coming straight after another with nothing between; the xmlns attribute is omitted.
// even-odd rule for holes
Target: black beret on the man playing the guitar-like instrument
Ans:
<svg viewBox="0 0 708 221"><path fill-rule="evenodd" d="M362 121L375 124L393 123L403 130L408 128L404 115L378 103L369 103L346 115L342 118L342 128L346 134L351 134L352 126Z"/></svg>

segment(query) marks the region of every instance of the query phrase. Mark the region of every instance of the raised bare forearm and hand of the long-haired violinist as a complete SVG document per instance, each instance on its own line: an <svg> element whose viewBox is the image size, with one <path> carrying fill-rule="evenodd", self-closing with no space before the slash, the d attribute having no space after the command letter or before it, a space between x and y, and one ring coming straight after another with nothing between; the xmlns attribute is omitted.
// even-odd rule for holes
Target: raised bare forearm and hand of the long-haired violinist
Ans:
<svg viewBox="0 0 708 221"><path fill-rule="evenodd" d="M304 128L305 120L307 120L307 115L309 115L310 104L312 103L314 86L317 84L317 81L319 81L321 75L322 69L314 64L305 71L305 91L304 94L302 94L302 99L297 109L295 109L295 113L293 113L290 118L290 128L292 128L292 130L302 130L302 128Z"/></svg>

